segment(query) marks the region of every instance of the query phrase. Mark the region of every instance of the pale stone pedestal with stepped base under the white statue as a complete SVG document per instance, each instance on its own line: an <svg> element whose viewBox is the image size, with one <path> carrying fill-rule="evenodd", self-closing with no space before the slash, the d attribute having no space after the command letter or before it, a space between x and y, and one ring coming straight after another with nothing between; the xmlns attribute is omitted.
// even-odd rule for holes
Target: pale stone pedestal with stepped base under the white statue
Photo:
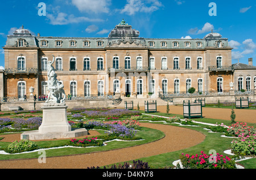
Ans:
<svg viewBox="0 0 256 180"><path fill-rule="evenodd" d="M20 139L42 140L75 138L88 135L85 128L72 130L67 118L68 106L56 103L46 103L42 107L43 120L39 130L23 132Z"/></svg>

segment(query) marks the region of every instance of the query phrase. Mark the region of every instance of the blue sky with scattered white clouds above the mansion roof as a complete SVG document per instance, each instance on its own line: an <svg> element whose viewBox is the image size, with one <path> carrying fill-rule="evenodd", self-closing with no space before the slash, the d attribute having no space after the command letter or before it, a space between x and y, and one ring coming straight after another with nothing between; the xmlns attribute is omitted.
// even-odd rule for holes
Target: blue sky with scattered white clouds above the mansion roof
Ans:
<svg viewBox="0 0 256 180"><path fill-rule="evenodd" d="M46 4L46 16L38 5ZM216 3L210 16L209 3ZM1 1L0 66L7 35L22 27L34 35L108 37L122 19L145 38L203 38L211 29L229 38L232 63L256 66L256 1L230 0L19 0Z"/></svg>

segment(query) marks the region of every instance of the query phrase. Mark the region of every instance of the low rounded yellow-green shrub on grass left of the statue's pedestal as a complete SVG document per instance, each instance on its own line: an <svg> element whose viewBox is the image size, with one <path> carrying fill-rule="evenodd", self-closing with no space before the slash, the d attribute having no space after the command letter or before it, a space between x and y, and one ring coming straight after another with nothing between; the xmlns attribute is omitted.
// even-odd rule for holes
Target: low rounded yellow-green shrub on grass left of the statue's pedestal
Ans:
<svg viewBox="0 0 256 180"><path fill-rule="evenodd" d="M6 152L8 153L20 153L25 151L34 151L35 149L38 149L38 145L35 144L35 142L32 142L30 140L20 140L15 141L9 144L6 148Z"/></svg>

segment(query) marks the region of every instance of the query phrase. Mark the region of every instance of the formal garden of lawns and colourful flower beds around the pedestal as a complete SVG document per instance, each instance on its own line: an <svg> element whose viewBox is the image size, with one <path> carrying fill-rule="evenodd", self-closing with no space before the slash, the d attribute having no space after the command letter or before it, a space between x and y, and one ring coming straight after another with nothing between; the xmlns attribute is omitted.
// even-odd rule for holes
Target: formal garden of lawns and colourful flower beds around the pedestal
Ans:
<svg viewBox="0 0 256 180"><path fill-rule="evenodd" d="M69 109L68 122L72 128L86 128L89 132L97 131L98 135L81 139L1 142L1 137L6 134L38 130L42 123L42 111L0 113L0 164L3 163L1 160L37 158L40 149L46 150L47 157L54 157L110 151L155 142L164 138L164 133L142 126L143 123L155 123L195 130L205 135L205 139L179 151L88 168L256 168L256 124L253 123L236 122L234 119L187 119L183 115L168 112L145 113L142 110L108 108Z"/></svg>

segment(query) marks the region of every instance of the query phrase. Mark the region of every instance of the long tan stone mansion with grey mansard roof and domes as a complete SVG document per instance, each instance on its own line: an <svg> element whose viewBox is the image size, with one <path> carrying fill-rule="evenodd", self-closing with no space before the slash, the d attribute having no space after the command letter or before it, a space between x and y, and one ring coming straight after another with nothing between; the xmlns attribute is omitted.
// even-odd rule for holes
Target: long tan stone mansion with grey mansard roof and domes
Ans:
<svg viewBox="0 0 256 180"><path fill-rule="evenodd" d="M66 95L146 98L163 94L224 93L254 90L256 67L232 65L228 38L211 32L203 38L143 38L124 20L108 37L44 37L17 29L7 36L1 97L47 95L47 62L53 55L57 79ZM237 73L236 73L237 71ZM0 80L0 82L1 82Z"/></svg>

